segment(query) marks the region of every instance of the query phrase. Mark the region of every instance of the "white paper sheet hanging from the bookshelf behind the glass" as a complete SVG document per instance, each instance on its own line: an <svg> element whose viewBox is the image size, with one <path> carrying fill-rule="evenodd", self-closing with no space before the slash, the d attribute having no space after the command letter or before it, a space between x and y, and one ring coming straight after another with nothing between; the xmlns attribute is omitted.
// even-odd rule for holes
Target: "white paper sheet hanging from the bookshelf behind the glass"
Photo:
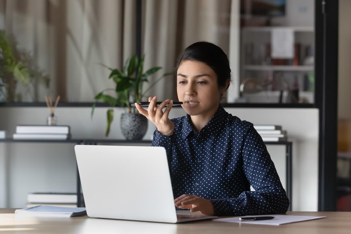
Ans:
<svg viewBox="0 0 351 234"><path fill-rule="evenodd" d="M271 37L272 58L294 58L294 31L290 28L274 28Z"/></svg>

